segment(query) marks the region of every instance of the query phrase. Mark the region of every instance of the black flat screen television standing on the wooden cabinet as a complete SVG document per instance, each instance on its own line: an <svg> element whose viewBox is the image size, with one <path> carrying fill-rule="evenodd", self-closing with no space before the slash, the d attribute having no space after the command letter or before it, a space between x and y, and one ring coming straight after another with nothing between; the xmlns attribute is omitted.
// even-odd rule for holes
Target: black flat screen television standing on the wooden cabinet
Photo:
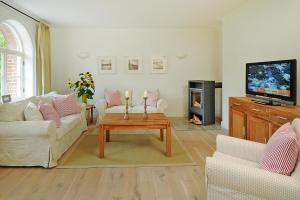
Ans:
<svg viewBox="0 0 300 200"><path fill-rule="evenodd" d="M246 94L296 104L297 61L279 60L246 64Z"/></svg>

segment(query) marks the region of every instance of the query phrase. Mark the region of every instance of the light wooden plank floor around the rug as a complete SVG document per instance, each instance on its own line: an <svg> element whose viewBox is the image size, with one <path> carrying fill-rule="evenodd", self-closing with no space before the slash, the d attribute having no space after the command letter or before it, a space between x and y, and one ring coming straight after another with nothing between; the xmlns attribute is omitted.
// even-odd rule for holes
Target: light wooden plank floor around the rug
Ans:
<svg viewBox="0 0 300 200"><path fill-rule="evenodd" d="M216 133L220 132L220 128L218 125L193 128L187 126L183 118L171 120L176 125L172 133L178 136L197 166L89 169L0 167L0 200L205 199L205 158L213 154Z"/></svg>

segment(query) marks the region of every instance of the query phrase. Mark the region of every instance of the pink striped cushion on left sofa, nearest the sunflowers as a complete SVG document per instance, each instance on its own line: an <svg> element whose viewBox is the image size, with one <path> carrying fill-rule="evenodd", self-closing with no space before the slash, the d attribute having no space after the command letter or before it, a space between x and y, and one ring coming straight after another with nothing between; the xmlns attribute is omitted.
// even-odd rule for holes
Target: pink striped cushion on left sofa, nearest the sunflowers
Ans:
<svg viewBox="0 0 300 200"><path fill-rule="evenodd" d="M77 105L75 93L70 95L57 95L53 98L53 104L61 117L80 113Z"/></svg>

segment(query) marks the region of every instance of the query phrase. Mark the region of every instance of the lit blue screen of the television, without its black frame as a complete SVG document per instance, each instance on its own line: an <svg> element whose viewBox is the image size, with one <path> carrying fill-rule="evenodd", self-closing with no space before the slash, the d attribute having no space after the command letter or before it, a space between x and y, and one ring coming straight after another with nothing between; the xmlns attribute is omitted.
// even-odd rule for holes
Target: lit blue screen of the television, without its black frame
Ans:
<svg viewBox="0 0 300 200"><path fill-rule="evenodd" d="M291 62L249 64L248 91L291 97Z"/></svg>

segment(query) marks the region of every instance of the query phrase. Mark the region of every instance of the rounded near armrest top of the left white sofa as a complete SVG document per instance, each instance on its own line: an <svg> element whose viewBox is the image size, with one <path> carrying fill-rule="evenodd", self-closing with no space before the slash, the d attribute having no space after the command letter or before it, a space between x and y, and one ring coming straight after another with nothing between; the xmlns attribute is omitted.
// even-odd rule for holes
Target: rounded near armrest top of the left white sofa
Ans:
<svg viewBox="0 0 300 200"><path fill-rule="evenodd" d="M54 121L0 122L0 139L49 137L54 135L55 132L56 125Z"/></svg>

